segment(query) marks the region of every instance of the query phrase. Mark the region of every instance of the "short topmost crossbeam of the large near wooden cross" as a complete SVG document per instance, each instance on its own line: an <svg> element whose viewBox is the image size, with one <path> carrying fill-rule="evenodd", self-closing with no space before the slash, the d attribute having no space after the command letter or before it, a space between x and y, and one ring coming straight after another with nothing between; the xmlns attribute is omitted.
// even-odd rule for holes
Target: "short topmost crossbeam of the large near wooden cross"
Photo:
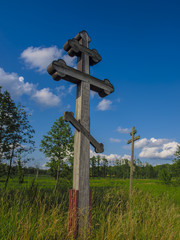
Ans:
<svg viewBox="0 0 180 240"><path fill-rule="evenodd" d="M93 66L102 60L101 56L97 52L96 49L89 49L81 44L79 44L78 40L73 38L68 40L64 46L64 50L69 54L69 56L80 56L81 53L86 53L89 55L89 65Z"/></svg>

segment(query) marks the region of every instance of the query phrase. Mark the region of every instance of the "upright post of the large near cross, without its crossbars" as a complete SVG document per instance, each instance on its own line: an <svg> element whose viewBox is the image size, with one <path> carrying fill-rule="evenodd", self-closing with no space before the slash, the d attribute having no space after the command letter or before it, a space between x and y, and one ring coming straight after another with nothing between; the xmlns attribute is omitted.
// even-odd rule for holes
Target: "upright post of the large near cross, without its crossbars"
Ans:
<svg viewBox="0 0 180 240"><path fill-rule="evenodd" d="M90 38L83 31L75 37L79 43L89 47ZM89 74L89 56L81 53L77 58L77 70ZM90 131L90 84L81 81L77 85L76 119ZM81 131L75 130L73 189L79 191L78 198L78 236L88 239L89 230L89 140Z"/></svg>

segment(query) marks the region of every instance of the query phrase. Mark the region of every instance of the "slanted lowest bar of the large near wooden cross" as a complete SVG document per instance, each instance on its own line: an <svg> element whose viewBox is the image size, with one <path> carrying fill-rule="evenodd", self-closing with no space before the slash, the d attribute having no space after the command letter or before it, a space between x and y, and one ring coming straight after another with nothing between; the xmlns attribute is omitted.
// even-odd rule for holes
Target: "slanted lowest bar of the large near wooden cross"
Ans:
<svg viewBox="0 0 180 240"><path fill-rule="evenodd" d="M95 148L96 153L104 152L104 145L96 141L96 139L88 132L80 123L74 118L73 112L65 112L64 120L70 122L78 131L81 131L90 141L91 145Z"/></svg>

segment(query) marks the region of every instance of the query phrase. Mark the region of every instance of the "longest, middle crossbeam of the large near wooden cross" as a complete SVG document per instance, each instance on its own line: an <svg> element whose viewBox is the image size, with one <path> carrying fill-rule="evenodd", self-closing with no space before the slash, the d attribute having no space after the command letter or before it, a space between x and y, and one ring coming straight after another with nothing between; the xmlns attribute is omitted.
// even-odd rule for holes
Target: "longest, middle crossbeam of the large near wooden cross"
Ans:
<svg viewBox="0 0 180 240"><path fill-rule="evenodd" d="M105 97L114 92L114 87L108 79L100 80L92 77L87 73L78 71L72 67L67 66L65 61L62 59L53 61L48 66L47 71L56 81L64 79L75 84L78 84L81 81L87 82L90 84L90 89L97 92L100 97Z"/></svg>

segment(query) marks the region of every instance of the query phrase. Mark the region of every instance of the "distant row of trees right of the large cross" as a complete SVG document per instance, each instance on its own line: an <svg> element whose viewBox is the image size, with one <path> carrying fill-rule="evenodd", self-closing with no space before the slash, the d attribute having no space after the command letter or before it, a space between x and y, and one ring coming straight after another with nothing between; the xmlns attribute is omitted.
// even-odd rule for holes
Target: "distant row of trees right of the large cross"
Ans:
<svg viewBox="0 0 180 240"><path fill-rule="evenodd" d="M180 147L178 149L177 152L180 151ZM161 172L166 172L171 177L177 178L180 175L179 165L180 160L177 159L173 161L173 164L156 166L152 166L149 163L142 163L139 159L135 159L133 176L137 179L153 179L159 178ZM127 179L130 177L130 161L128 159L116 159L110 165L105 157L93 156L90 159L90 176Z"/></svg>

